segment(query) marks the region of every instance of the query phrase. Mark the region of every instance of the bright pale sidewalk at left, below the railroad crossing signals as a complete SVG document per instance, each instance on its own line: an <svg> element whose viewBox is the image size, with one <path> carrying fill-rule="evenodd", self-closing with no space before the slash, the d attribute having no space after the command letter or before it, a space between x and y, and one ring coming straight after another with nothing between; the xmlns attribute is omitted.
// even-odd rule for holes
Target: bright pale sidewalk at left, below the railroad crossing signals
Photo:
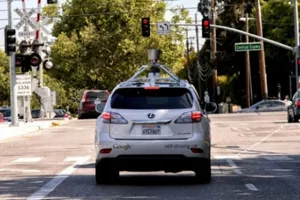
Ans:
<svg viewBox="0 0 300 200"><path fill-rule="evenodd" d="M52 126L59 126L66 122L67 121L65 120L43 120L29 122L26 124L24 122L19 122L19 126L17 127L10 127L10 123L7 122L0 123L0 141L47 129Z"/></svg>

